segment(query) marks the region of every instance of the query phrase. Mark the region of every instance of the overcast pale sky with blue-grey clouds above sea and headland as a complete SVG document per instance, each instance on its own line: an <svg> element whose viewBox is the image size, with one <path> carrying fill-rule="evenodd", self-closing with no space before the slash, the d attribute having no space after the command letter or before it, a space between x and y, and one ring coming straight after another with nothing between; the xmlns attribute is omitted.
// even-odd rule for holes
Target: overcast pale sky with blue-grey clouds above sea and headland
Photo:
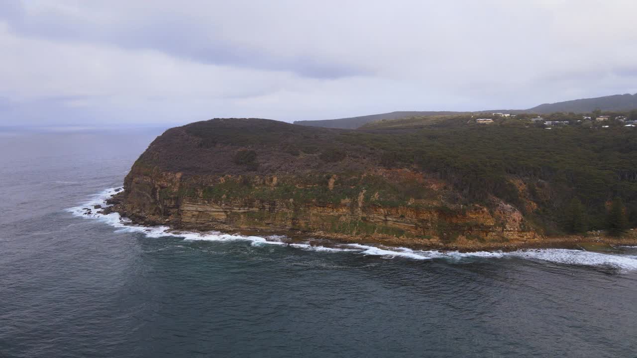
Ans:
<svg viewBox="0 0 637 358"><path fill-rule="evenodd" d="M634 0L0 0L0 125L292 122L637 92Z"/></svg>

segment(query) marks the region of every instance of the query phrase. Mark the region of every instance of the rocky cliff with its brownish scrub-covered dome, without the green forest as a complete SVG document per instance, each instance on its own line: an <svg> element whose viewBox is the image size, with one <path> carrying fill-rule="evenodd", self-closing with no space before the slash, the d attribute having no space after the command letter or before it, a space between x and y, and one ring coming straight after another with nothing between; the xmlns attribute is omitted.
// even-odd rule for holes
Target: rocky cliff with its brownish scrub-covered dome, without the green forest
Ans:
<svg viewBox="0 0 637 358"><path fill-rule="evenodd" d="M261 119L169 129L132 166L115 210L176 229L410 246L541 239L511 204L471 203L426 171L382 166L352 134Z"/></svg>

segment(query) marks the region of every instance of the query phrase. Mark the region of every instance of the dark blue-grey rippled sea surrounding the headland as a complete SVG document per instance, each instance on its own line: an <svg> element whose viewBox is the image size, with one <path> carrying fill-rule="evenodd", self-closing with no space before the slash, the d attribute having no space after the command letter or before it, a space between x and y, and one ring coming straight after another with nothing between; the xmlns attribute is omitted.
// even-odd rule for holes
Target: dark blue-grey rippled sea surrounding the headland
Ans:
<svg viewBox="0 0 637 358"><path fill-rule="evenodd" d="M157 134L0 136L0 357L637 357L633 248L410 258L67 210Z"/></svg>

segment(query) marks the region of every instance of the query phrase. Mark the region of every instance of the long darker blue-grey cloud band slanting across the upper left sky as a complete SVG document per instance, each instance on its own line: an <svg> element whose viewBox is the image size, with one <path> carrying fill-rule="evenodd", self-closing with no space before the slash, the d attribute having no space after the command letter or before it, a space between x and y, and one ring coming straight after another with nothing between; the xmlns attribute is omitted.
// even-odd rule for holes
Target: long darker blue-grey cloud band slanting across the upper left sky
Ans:
<svg viewBox="0 0 637 358"><path fill-rule="evenodd" d="M157 50L203 64L290 71L308 78L336 79L372 74L369 69L339 62L317 61L309 55L278 56L257 48L229 43L224 40L223 34L206 36L210 29L204 29L203 24L193 24L178 17L148 17L140 22L104 26L82 18L29 16L24 6L16 1L0 4L0 20L9 24L11 30L26 36L105 43L129 50Z"/></svg>

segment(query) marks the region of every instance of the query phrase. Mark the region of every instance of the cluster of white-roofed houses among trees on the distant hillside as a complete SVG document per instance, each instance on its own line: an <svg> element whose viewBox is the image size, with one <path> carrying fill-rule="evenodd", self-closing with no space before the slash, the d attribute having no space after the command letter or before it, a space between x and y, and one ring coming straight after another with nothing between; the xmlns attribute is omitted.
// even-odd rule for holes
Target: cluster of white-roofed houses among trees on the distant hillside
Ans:
<svg viewBox="0 0 637 358"><path fill-rule="evenodd" d="M473 118L475 116L471 117ZM527 113L512 114L496 112L491 113L488 117L476 118L475 123L494 124L496 122L515 119L526 122L528 124L527 126L533 125L534 127L544 127L545 129L554 129L568 125L579 125L585 128L625 127L626 129L637 126L637 111L610 114L602 114L599 110L588 114L551 113L546 117L547 118Z"/></svg>

